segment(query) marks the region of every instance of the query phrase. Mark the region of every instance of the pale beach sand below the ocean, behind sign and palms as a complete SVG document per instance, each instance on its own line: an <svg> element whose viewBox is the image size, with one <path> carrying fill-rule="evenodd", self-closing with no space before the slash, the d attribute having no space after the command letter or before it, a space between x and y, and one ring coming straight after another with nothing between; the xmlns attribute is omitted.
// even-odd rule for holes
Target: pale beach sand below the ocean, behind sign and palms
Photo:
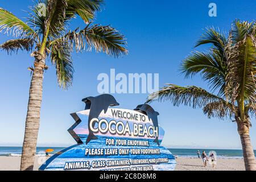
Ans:
<svg viewBox="0 0 256 182"><path fill-rule="evenodd" d="M44 158L36 157L34 170L38 170L40 161ZM244 171L245 165L242 159L218 159L216 168L208 164L203 166L202 159L195 158L177 158L175 171ZM16 171L19 170L20 156L0 156L0 171Z"/></svg>

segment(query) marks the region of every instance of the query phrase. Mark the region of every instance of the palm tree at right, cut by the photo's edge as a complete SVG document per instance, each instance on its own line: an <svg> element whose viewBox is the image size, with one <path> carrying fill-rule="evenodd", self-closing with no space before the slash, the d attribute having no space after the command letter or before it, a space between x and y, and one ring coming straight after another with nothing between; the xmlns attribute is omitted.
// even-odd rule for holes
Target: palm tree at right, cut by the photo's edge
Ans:
<svg viewBox="0 0 256 182"><path fill-rule="evenodd" d="M181 65L185 77L200 73L211 92L197 86L169 84L152 93L147 102L171 101L203 108L208 117L229 118L237 123L246 170L256 170L255 155L250 142L250 116L255 117L256 38L255 22L232 24L228 38L208 28L196 47L210 44L205 52L192 52Z"/></svg>

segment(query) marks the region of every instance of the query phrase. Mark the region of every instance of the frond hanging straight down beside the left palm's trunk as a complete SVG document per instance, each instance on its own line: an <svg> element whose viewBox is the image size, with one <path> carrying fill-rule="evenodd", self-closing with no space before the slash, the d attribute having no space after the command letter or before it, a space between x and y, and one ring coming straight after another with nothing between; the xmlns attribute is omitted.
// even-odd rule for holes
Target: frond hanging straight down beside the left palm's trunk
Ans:
<svg viewBox="0 0 256 182"><path fill-rule="evenodd" d="M60 87L67 89L73 81L72 49L66 41L59 40L51 45L51 61L56 67L57 81Z"/></svg>

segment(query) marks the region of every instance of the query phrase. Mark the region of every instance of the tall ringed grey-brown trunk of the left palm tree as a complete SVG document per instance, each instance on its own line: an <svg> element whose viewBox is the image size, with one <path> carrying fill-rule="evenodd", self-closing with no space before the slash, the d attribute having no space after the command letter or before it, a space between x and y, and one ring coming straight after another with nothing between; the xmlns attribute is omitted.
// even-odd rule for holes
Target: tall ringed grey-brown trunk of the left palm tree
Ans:
<svg viewBox="0 0 256 182"><path fill-rule="evenodd" d="M36 142L40 124L40 109L43 93L44 60L35 60L30 83L26 127L22 148L21 171L32 171L36 154Z"/></svg>

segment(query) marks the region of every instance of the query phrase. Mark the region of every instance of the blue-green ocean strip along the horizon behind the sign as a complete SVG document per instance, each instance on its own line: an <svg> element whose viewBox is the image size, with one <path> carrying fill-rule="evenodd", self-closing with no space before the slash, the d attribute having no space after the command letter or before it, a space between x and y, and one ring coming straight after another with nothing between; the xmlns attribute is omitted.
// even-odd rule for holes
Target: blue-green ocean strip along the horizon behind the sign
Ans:
<svg viewBox="0 0 256 182"><path fill-rule="evenodd" d="M52 148L54 151L51 153L55 154L58 151L63 150L65 147L37 147L36 155L45 155L44 151L47 148ZM202 148L168 148L172 152L172 155L177 156L178 158L197 158L197 150L202 152L205 150L207 154L210 151L215 151L217 153L218 158L242 158L242 150L223 150L223 149L202 149ZM21 156L22 147L0 147L0 156ZM256 150L254 150L254 154L256 154ZM256 155L255 155L256 157Z"/></svg>

